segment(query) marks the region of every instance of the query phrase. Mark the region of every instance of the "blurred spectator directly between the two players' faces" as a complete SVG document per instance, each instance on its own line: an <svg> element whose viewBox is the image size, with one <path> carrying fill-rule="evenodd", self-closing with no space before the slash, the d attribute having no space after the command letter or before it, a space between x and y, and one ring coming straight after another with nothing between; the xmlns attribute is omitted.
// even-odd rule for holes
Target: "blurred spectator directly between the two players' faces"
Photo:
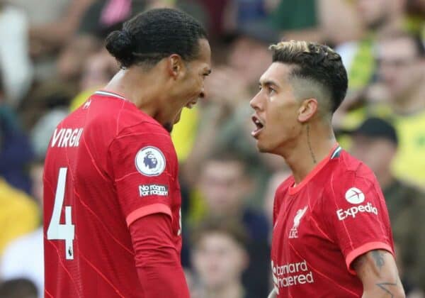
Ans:
<svg viewBox="0 0 425 298"><path fill-rule="evenodd" d="M260 187L268 175L283 165L273 155L259 155L251 138L251 111L246 104L258 89L258 77L270 62L270 35L261 35L256 26L240 28L228 54L227 63L214 68L206 82L207 102L201 106L195 144L182 171L193 185L204 160L215 151L234 151L250 160L248 169L254 177L254 191L249 199L263 195ZM249 61L249 62L247 62Z"/></svg>

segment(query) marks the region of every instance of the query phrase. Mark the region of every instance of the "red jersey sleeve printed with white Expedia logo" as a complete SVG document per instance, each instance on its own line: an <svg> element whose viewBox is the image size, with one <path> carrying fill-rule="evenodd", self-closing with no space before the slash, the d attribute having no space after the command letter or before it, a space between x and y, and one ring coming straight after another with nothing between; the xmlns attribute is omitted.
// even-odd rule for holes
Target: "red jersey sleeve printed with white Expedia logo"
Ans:
<svg viewBox="0 0 425 298"><path fill-rule="evenodd" d="M341 249L351 274L353 260L370 250L388 250L394 255L390 219L375 175L348 171L330 184L322 208L324 221Z"/></svg>

